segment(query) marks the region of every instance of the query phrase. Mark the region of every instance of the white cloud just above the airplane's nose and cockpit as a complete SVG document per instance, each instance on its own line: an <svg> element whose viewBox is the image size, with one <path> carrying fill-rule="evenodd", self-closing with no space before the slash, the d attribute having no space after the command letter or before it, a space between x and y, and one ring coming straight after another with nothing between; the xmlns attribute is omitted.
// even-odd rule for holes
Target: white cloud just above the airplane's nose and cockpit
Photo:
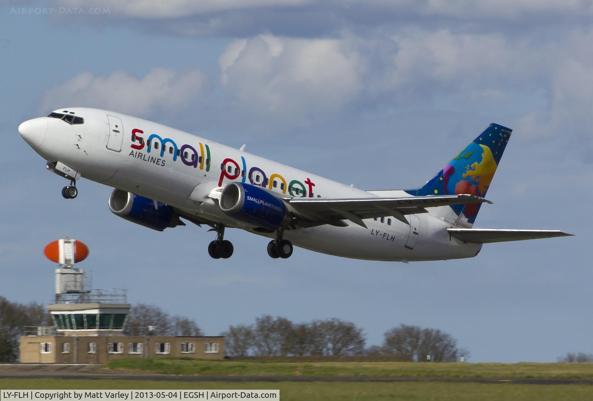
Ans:
<svg viewBox="0 0 593 401"><path fill-rule="evenodd" d="M44 113L56 107L77 105L117 110L145 116L156 108L186 109L200 97L206 78L200 70L177 73L155 68L138 79L124 71L110 76L94 76L83 72L62 85L48 89L40 110Z"/></svg>

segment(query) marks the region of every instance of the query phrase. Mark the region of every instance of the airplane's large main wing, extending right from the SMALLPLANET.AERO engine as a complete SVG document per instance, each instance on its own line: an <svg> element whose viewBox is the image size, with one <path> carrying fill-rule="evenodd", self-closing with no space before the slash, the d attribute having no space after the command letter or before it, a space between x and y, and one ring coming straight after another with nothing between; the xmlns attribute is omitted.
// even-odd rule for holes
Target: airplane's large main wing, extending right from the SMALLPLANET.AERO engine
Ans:
<svg viewBox="0 0 593 401"><path fill-rule="evenodd" d="M429 195L401 198L285 198L292 212L298 216L298 225L313 227L321 224L345 227L350 220L365 227L362 219L392 216L410 224L405 215L426 213L428 207L467 203L492 203L475 195Z"/></svg>

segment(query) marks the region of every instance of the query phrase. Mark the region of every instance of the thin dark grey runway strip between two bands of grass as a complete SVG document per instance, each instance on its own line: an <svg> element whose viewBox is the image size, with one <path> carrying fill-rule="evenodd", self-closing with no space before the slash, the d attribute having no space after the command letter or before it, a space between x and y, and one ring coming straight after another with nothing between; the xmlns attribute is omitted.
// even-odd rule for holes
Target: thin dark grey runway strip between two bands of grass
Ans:
<svg viewBox="0 0 593 401"><path fill-rule="evenodd" d="M183 376L167 374L93 373L65 370L3 370L0 378L68 378L91 380L156 380L156 381L353 381L366 383L396 383L404 381L445 381L489 384L593 384L591 378L474 378L474 377L311 377L311 376Z"/></svg>

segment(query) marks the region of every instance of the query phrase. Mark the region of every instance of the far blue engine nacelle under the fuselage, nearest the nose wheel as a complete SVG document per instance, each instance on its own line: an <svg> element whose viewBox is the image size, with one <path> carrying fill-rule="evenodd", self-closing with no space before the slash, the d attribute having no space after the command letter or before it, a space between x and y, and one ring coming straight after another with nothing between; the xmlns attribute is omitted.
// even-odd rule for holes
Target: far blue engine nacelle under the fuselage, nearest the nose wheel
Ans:
<svg viewBox="0 0 593 401"><path fill-rule="evenodd" d="M153 200L122 190L111 193L109 210L129 222L157 231L185 225L167 204L157 202L155 207Z"/></svg>

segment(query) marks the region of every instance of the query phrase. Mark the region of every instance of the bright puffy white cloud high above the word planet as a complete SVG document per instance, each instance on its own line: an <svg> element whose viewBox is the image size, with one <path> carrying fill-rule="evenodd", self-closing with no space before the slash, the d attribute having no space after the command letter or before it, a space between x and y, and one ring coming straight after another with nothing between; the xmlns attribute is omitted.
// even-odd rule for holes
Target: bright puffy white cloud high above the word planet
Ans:
<svg viewBox="0 0 593 401"><path fill-rule="evenodd" d="M364 65L346 45L272 36L238 40L219 57L221 82L250 113L280 120L331 113L362 90Z"/></svg>

